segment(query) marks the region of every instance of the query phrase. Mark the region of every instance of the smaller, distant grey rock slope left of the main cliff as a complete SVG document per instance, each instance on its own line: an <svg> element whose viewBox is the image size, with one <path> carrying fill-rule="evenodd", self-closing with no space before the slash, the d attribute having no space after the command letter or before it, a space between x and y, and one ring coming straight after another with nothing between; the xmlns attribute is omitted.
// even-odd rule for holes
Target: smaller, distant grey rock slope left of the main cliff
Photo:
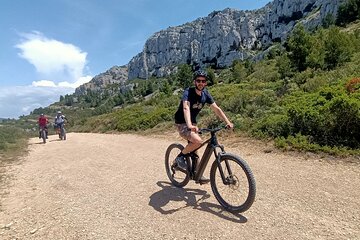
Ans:
<svg viewBox="0 0 360 240"><path fill-rule="evenodd" d="M128 80L127 66L114 66L75 89L75 95L83 95L87 90L101 92L111 84L123 85Z"/></svg>

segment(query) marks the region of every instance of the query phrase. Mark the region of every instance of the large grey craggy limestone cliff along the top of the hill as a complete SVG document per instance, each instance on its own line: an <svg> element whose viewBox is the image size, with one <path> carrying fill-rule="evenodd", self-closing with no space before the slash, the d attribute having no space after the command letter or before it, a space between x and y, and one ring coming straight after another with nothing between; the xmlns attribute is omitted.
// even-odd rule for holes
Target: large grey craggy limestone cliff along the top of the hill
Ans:
<svg viewBox="0 0 360 240"><path fill-rule="evenodd" d="M313 28L336 15L346 0L274 0L261 9L215 11L181 26L153 34L128 64L128 78L162 77L178 64L218 68L235 59L256 57L287 38L297 22Z"/></svg>

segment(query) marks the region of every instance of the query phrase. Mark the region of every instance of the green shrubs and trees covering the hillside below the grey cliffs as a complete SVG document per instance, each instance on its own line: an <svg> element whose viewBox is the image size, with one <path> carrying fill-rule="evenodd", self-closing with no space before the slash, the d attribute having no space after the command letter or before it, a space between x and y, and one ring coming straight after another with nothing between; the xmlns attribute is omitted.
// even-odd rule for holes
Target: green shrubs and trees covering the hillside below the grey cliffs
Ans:
<svg viewBox="0 0 360 240"><path fill-rule="evenodd" d="M350 1L340 8L344 11ZM357 14L357 15L356 15ZM277 147L336 155L360 153L359 13L340 12L323 27L298 24L282 45L273 45L258 62L234 61L226 69L208 68L208 89L239 134L272 139ZM334 24L337 24L335 26ZM192 66L178 66L166 78L135 79L128 91L88 91L66 95L39 113L61 109L68 128L82 132L168 130L182 89L192 85ZM209 108L200 125L217 124Z"/></svg>

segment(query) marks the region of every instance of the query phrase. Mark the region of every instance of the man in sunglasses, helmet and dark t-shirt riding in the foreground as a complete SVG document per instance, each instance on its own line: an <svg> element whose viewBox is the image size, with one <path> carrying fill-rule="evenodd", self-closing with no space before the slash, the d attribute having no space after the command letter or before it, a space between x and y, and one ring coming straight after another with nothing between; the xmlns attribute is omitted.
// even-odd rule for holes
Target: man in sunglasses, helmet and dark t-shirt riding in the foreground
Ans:
<svg viewBox="0 0 360 240"><path fill-rule="evenodd" d="M175 113L175 123L178 132L181 137L188 140L188 144L176 158L178 167L184 170L187 168L185 155L200 147L203 142L198 134L199 129L196 126L196 117L206 103L209 104L213 112L226 123L227 127L233 128L234 126L205 88L207 78L208 76L204 71L200 70L194 73L195 87L185 89L178 110ZM207 179L202 179L203 182L208 182Z"/></svg>

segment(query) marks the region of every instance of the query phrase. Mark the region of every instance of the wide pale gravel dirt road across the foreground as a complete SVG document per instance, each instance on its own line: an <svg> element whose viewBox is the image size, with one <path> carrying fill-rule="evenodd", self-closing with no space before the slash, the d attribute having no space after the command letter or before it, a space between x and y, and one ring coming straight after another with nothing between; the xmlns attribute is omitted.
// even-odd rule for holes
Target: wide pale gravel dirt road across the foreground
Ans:
<svg viewBox="0 0 360 240"><path fill-rule="evenodd" d="M231 214L210 185L169 184L164 152L179 140L31 139L29 155L8 169L0 239L360 239L360 165L233 144L227 150L249 163L257 198Z"/></svg>

